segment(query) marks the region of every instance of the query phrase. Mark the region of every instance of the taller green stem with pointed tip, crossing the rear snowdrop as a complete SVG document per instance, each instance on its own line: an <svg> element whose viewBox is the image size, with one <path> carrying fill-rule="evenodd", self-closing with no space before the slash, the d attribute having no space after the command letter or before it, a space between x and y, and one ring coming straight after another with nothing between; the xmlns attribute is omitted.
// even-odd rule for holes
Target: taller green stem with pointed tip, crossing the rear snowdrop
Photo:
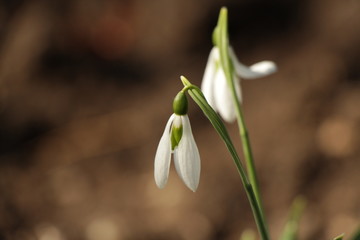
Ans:
<svg viewBox="0 0 360 240"><path fill-rule="evenodd" d="M242 147L243 147L244 156L245 156L247 174L249 176L250 183L253 186L254 194L255 194L256 200L258 201L258 204L259 204L259 207L261 210L263 222L266 223L265 214L264 214L264 210L263 210L263 204L262 204L261 197L260 197L260 190L259 190L259 184L258 184L257 175L256 175L254 158L253 158L253 154L252 154L252 150L251 150L251 146L250 146L250 139L249 139L249 135L247 133L246 125L245 125L242 107L241 107L239 97L238 97L238 95L236 93L236 89L235 89L235 83L234 83L234 79L233 79L234 71L233 71L232 62L230 61L230 57L229 57L229 40L228 40L227 29L228 29L227 9L222 8L220 10L220 16L219 16L219 21L218 21L218 25L217 25L217 31L218 31L217 45L218 45L219 51L220 51L220 61L221 61L221 65L224 69L224 73L225 73L227 82L231 89L231 95L233 98L233 103L235 105L236 118L237 118L239 133L240 133Z"/></svg>

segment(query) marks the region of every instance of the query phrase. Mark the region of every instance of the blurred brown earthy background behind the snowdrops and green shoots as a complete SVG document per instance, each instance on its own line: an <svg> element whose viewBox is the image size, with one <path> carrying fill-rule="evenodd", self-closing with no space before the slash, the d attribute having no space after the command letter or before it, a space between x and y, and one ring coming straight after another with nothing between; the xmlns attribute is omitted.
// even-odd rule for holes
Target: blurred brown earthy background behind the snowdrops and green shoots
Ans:
<svg viewBox="0 0 360 240"><path fill-rule="evenodd" d="M271 235L295 196L301 239L360 219L360 1L0 1L0 239L239 239L255 228L234 164L190 101L198 191L153 159L180 75L200 85L221 6ZM236 124L228 124L240 150Z"/></svg>

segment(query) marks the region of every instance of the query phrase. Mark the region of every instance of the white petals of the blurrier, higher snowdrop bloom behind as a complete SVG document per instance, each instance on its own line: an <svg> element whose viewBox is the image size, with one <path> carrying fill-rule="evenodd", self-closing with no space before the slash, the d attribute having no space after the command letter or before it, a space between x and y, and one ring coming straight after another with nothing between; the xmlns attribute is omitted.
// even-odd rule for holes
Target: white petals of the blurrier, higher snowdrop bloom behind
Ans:
<svg viewBox="0 0 360 240"><path fill-rule="evenodd" d="M277 69L275 63L271 61L262 61L247 67L239 62L231 47L229 48L229 57L234 68L234 86L240 102L242 101L240 78L255 79L265 77L274 73ZM210 106L214 108L225 121L233 122L236 119L235 106L232 100L230 86L226 81L225 72L221 66L218 47L213 47L210 52L201 90Z"/></svg>

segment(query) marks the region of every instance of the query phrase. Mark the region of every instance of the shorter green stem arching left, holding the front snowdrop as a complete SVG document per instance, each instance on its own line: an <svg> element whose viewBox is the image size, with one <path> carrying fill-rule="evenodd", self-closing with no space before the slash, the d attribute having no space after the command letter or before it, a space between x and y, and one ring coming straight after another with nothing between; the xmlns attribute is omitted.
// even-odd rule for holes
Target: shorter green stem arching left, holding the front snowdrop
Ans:
<svg viewBox="0 0 360 240"><path fill-rule="evenodd" d="M269 235L268 235L268 232L266 229L266 225L265 225L265 222L263 219L263 214L261 212L259 202L256 199L256 195L254 193L253 187L252 187L251 183L249 182L249 179L246 175L244 167L240 161L239 155L236 152L234 144L231 141L231 138L226 130L224 123L221 121L218 114L207 103L201 90L198 87L196 87L195 85L192 85L185 77L181 76L181 80L182 80L185 88L188 90L188 93L191 96L191 98L201 108L201 110L204 112L205 116L209 119L211 124L214 126L215 130L218 132L218 134L224 141L226 148L228 149L228 151L235 163L235 166L238 170L242 184L245 188L245 192L249 199L250 206L253 211L255 222L258 227L261 239L269 240Z"/></svg>

